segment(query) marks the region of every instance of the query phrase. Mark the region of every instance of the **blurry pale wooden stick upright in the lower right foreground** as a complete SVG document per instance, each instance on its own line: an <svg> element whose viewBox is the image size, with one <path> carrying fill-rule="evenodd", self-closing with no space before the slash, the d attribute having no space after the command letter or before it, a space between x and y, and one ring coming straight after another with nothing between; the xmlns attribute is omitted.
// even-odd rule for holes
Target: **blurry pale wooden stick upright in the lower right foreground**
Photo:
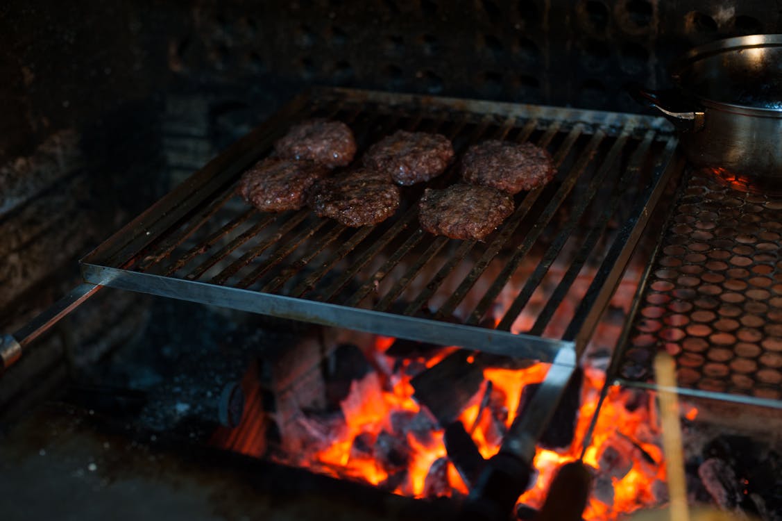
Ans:
<svg viewBox="0 0 782 521"><path fill-rule="evenodd" d="M671 521L689 521L687 506L687 482L684 477L682 430L679 420L679 400L676 392L676 364L664 351L655 356L655 376L660 400L660 423L662 425L662 450L665 454L665 469L668 474L668 494L671 497ZM668 388L668 389L664 389Z"/></svg>

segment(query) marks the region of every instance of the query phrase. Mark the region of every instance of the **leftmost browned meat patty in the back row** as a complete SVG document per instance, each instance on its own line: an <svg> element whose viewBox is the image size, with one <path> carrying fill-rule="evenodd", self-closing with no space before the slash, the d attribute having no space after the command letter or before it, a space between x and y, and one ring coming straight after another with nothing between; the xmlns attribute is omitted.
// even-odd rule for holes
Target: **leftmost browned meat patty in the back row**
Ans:
<svg viewBox="0 0 782 521"><path fill-rule="evenodd" d="M342 121L310 119L293 126L274 143L274 152L286 159L309 159L334 168L349 165L356 155L356 139Z"/></svg>

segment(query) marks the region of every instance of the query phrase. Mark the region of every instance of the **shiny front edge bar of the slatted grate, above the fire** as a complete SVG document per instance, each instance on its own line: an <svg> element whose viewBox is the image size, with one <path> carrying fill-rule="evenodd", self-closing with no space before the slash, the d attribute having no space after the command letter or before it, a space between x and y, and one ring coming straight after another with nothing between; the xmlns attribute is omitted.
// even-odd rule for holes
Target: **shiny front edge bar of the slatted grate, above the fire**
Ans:
<svg viewBox="0 0 782 521"><path fill-rule="evenodd" d="M326 302L268 295L257 291L226 288L193 280L172 279L108 266L82 263L81 270L85 280L110 288L178 298L313 324L346 327L356 331L431 342L441 346L462 346L483 353L554 363L561 349L574 349L573 342L569 341L513 335L507 331L441 323L368 309L347 308Z"/></svg>

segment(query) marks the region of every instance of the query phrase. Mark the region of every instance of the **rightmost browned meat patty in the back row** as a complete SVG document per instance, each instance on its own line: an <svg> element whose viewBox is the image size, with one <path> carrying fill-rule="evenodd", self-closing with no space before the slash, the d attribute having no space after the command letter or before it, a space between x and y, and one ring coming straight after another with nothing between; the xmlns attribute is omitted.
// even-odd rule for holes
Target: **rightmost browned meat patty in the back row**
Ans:
<svg viewBox="0 0 782 521"><path fill-rule="evenodd" d="M557 173L547 150L532 143L496 139L470 147L461 159L460 169L466 183L493 186L508 194L534 190Z"/></svg>

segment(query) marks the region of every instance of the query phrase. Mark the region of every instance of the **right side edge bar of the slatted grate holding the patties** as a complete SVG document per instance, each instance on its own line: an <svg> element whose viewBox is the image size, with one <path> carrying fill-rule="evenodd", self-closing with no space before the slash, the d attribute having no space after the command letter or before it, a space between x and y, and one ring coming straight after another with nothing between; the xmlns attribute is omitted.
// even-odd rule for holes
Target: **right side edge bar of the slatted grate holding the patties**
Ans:
<svg viewBox="0 0 782 521"><path fill-rule="evenodd" d="M579 309L576 309L576 317L583 314L583 318L579 321L573 320L565 330L565 335L562 338L575 340L579 355L586 348L594 328L597 327L597 319L602 315L605 306L608 306L608 302L611 301L616 285L619 284L622 273L627 268L627 262L630 261L630 255L635 250L638 241L640 241L640 236L649 223L649 219L651 219L651 214L653 213L651 208L657 206L669 180L676 172L681 172L683 168L684 159L676 153L677 144L678 140L675 137L671 137L668 140L668 143L665 145L664 156L667 160L665 165L661 165L658 168L658 172L662 173L658 175L656 183L651 183L647 195L642 196L645 203L640 208L638 214L628 219L625 226L619 230L612 248L608 251L604 261L598 268L595 279L604 280L604 284L601 284L600 288L596 288L593 281L590 287L587 288L587 294L584 295L584 298L579 303L579 309L583 308L583 306L588 306L589 311L587 313L579 313ZM610 261L610 266L606 264L608 261ZM608 271L608 273L602 276L601 271Z"/></svg>

